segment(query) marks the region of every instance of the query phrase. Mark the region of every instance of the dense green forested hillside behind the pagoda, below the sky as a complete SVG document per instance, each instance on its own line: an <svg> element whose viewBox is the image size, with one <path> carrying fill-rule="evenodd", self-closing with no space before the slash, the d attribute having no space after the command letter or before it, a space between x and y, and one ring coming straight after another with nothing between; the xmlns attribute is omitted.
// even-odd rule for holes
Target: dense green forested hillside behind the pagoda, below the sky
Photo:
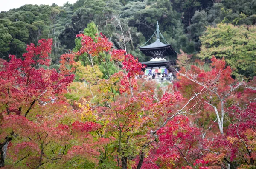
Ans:
<svg viewBox="0 0 256 169"><path fill-rule="evenodd" d="M0 13L0 57L7 58L9 54L20 57L26 51L26 44L37 44L41 38L52 38L50 58L52 65L58 65L61 54L75 48L76 34L84 32L84 28L91 22L95 23L98 32L112 40L116 48L123 48L120 29L114 16L120 16L124 23L128 52L137 56L140 62L149 58L141 54L137 47L151 37L157 21L163 37L177 52L181 49L187 54L197 54L202 49L201 58L210 58L215 54L219 50L215 48L215 45L219 44L218 38L224 38L221 30L210 28L204 37L200 38L207 27L214 26L230 30L225 35L227 38L224 38L226 43L220 47L230 50L221 51L216 57L226 57L228 53L236 50L236 45L241 47L244 40L247 40L246 43L249 44L243 56L235 57L236 60L233 61L229 59L227 63L232 65L232 68L236 67L239 74L247 77L255 75L255 62L248 56L254 49L250 43L255 42L254 0L78 0L74 4L66 3L64 6L57 6L55 3L52 6L24 5ZM224 23L235 27L217 26ZM246 27L250 29L246 30ZM239 34L236 34L237 32ZM234 45L229 44L243 36L246 39ZM151 42L153 41L154 38ZM205 47L210 48L207 50ZM234 62L244 59L248 62L235 65Z"/></svg>

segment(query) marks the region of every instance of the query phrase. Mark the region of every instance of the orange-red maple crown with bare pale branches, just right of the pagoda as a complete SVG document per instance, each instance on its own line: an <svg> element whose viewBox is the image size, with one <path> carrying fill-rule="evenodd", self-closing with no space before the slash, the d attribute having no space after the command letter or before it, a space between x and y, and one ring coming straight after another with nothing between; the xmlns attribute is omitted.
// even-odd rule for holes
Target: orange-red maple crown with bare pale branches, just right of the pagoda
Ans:
<svg viewBox="0 0 256 169"><path fill-rule="evenodd" d="M201 104L205 104L206 101L216 105L218 109L220 102L224 105L227 99L234 97L233 93L235 93L235 90L233 88L236 86L234 85L236 81L231 77L231 68L229 66L225 67L224 59L216 59L213 56L211 61L212 67L210 67L209 71L191 65L191 69L183 69L182 72L178 73L178 79L180 80L175 85L186 99L189 99L195 93L199 93L202 89L207 93L204 96L198 97L198 100L200 100L199 104L191 101L189 106L195 104L202 106ZM200 108L198 106L195 108Z"/></svg>

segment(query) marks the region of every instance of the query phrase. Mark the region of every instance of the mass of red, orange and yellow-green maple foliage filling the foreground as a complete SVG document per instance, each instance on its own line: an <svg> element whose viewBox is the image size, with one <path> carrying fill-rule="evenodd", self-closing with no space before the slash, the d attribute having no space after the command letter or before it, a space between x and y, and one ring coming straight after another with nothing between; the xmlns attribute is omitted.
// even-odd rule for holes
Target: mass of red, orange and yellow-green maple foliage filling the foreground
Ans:
<svg viewBox="0 0 256 169"><path fill-rule="evenodd" d="M0 166L5 161L6 168L254 165L255 79L233 79L225 61L213 57L209 71L181 68L166 92L137 79L144 65L114 49L102 34L95 41L78 37L80 51L61 55L58 70L48 67L51 39L28 45L21 59L0 60ZM74 79L74 58L84 53L99 105L63 96ZM95 58L105 65L106 79L97 76ZM122 70L111 74L111 64Z"/></svg>

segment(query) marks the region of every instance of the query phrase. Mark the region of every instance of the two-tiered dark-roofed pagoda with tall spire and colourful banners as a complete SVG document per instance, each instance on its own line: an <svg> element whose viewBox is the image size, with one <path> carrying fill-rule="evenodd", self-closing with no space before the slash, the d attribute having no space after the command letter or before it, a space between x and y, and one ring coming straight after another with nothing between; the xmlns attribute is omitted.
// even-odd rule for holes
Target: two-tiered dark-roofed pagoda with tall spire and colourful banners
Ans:
<svg viewBox="0 0 256 169"><path fill-rule="evenodd" d="M157 33L157 39L154 43L151 43L150 45L139 47L140 51L142 51L143 54L151 57L150 61L142 62L142 64L147 66L147 68L145 69L145 74L146 75L148 75L148 74L156 75L159 73L169 74L170 72L174 72L174 70L172 70L172 68L171 68L171 65L175 65L175 59L166 60L165 56L174 56L175 55L175 58L176 58L177 52L172 48L172 46L170 44L165 44L160 41L161 32L159 30L158 22L157 22L157 29L154 32L154 34L155 33ZM151 38L153 37L153 35L151 36ZM162 34L161 34L161 36L163 37ZM148 39L148 41L150 39ZM163 37L163 40L166 42L164 37Z"/></svg>

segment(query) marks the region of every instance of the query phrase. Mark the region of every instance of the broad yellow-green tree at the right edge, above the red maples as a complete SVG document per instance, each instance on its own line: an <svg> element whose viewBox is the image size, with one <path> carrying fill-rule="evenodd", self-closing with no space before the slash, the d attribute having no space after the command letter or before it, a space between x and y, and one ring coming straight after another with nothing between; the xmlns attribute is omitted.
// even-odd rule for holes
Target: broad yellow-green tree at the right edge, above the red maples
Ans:
<svg viewBox="0 0 256 169"><path fill-rule="evenodd" d="M256 26L218 24L207 27L200 37L202 46L198 56L209 59L212 55L224 58L234 70L233 75L253 78L256 75Z"/></svg>

